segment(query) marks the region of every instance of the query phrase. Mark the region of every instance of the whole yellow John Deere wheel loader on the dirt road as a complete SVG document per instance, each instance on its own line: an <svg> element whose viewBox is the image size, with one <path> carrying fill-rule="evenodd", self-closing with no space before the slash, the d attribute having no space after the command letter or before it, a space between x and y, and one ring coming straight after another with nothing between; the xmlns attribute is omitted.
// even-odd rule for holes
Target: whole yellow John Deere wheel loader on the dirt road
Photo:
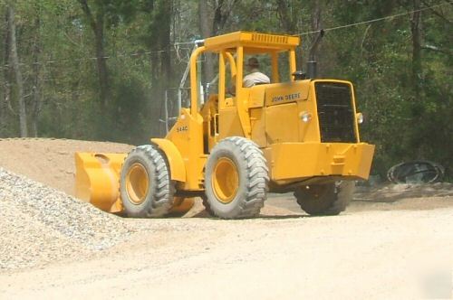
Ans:
<svg viewBox="0 0 453 300"><path fill-rule="evenodd" d="M190 58L189 107L168 135L127 155L77 153L77 197L137 218L188 211L195 197L218 218L251 218L268 192L294 192L312 215L344 211L354 181L369 176L374 145L361 142L351 82L296 70L299 42L253 32L205 39ZM202 103L207 52L217 56L218 89ZM269 84L243 87L249 56L270 62Z"/></svg>

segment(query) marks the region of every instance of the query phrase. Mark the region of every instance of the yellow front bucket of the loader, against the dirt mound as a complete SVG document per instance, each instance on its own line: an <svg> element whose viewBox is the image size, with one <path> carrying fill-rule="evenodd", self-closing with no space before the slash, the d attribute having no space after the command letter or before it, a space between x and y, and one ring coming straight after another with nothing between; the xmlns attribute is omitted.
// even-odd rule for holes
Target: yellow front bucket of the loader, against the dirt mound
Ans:
<svg viewBox="0 0 453 300"><path fill-rule="evenodd" d="M127 154L75 154L75 196L108 212L122 211L120 171Z"/></svg>

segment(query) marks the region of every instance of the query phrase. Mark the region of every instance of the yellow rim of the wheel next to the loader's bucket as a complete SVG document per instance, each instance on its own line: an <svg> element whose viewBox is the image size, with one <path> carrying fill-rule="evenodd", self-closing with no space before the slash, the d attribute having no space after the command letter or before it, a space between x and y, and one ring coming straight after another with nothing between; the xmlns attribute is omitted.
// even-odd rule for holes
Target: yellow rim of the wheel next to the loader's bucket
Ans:
<svg viewBox="0 0 453 300"><path fill-rule="evenodd" d="M142 164L132 164L126 176L126 190L130 202L141 204L145 201L149 189L148 172Z"/></svg>

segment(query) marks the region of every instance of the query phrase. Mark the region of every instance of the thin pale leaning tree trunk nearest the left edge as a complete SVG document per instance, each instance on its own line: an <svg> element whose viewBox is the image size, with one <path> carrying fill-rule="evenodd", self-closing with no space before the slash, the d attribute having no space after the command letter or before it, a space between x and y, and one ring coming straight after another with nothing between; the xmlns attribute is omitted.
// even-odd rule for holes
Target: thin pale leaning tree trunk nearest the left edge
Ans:
<svg viewBox="0 0 453 300"><path fill-rule="evenodd" d="M17 43L15 39L15 23L14 23L14 8L8 6L8 29L9 44L10 44L10 61L14 70L15 84L17 88L17 100L19 103L19 124L21 137L28 136L27 131L27 115L24 101L24 81L19 68L19 56L17 53Z"/></svg>

